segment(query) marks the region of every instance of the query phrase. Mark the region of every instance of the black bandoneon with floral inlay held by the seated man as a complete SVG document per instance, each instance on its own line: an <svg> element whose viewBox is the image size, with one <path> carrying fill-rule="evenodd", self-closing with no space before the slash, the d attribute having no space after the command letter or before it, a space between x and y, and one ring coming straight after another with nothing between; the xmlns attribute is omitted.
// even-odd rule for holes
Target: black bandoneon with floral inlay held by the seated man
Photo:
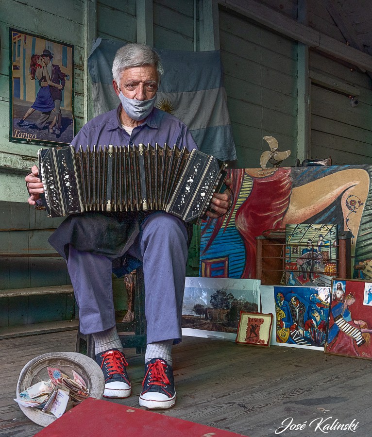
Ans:
<svg viewBox="0 0 372 437"><path fill-rule="evenodd" d="M82 146L38 151L49 217L85 211L163 210L197 222L220 190L226 164L205 153L166 144Z"/></svg>

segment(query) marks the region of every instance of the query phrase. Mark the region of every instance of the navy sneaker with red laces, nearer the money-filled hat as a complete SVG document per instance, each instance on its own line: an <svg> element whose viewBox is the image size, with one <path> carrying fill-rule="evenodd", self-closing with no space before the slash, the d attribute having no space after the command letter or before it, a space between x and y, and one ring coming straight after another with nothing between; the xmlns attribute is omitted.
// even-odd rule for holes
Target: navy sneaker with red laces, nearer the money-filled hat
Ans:
<svg viewBox="0 0 372 437"><path fill-rule="evenodd" d="M97 353L96 361L103 371L105 385L103 397L127 398L131 394L131 383L125 370L128 363L118 349Z"/></svg>

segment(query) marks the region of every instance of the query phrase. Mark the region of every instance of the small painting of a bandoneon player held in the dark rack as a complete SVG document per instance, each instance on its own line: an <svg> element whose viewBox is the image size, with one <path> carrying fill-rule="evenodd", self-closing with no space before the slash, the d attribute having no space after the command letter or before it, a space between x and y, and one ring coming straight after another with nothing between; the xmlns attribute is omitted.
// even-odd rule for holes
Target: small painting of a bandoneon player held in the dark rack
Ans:
<svg viewBox="0 0 372 437"><path fill-rule="evenodd" d="M331 286L338 276L337 225L286 225L286 284Z"/></svg>

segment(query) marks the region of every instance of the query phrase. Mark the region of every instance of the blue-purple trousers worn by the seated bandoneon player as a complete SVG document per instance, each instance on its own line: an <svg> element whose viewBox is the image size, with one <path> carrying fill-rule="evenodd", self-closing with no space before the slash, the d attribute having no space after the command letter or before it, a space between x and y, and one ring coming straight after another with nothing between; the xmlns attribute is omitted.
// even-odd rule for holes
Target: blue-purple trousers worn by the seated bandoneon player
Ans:
<svg viewBox="0 0 372 437"><path fill-rule="evenodd" d="M185 224L156 212L142 223L127 253L143 262L147 343L180 341L188 253ZM94 334L115 326L112 260L70 245L68 272L79 305L81 332Z"/></svg>

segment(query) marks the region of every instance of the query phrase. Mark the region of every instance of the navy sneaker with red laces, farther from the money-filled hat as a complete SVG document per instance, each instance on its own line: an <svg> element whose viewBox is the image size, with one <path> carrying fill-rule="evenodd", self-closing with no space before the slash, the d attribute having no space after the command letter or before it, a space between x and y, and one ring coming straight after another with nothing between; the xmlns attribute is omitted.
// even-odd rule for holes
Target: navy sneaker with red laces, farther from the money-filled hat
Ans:
<svg viewBox="0 0 372 437"><path fill-rule="evenodd" d="M147 408L170 408L176 403L173 370L166 361L152 358L145 364L139 404Z"/></svg>

